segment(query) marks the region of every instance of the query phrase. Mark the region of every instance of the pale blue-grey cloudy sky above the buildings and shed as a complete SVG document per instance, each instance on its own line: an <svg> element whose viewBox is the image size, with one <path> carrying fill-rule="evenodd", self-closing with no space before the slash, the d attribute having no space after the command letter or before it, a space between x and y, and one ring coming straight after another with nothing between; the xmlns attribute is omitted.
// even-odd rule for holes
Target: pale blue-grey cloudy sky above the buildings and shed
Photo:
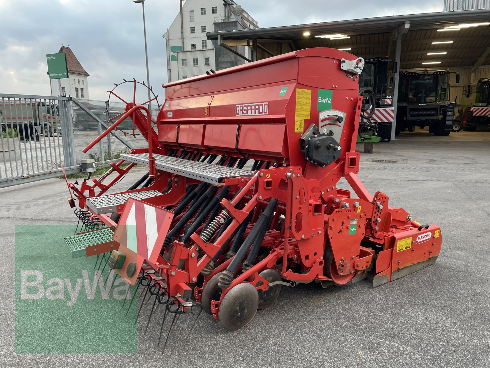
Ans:
<svg viewBox="0 0 490 368"><path fill-rule="evenodd" d="M238 2L261 27L435 12L443 4L443 0ZM396 5L387 6L390 3ZM179 0L146 0L145 11L150 81L163 96L161 85L167 73L162 34L177 16ZM132 0L0 0L0 92L49 95L46 54L57 53L62 43L70 45L90 74L91 99L105 101L112 83L123 78L146 79L141 4Z"/></svg>

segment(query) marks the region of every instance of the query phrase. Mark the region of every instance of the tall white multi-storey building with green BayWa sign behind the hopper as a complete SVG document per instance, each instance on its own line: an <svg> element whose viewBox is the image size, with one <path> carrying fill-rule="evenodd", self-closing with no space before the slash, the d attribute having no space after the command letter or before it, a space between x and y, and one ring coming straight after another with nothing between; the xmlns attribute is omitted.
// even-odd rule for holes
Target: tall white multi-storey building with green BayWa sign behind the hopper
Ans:
<svg viewBox="0 0 490 368"><path fill-rule="evenodd" d="M182 20L182 22L181 22ZM169 81L245 63L238 55L209 41L206 32L258 28L257 22L233 0L187 0L163 35ZM250 58L246 46L234 50Z"/></svg>

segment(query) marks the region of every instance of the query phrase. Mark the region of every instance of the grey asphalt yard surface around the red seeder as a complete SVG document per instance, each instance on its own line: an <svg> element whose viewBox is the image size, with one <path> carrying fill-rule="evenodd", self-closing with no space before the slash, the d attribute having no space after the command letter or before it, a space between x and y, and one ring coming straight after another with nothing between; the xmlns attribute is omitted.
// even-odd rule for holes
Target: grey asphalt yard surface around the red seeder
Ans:
<svg viewBox="0 0 490 368"><path fill-rule="evenodd" d="M441 226L434 265L375 289L371 279L283 287L272 306L234 332L203 313L185 346L193 320L183 316L164 355L156 347L161 319L144 335L147 318L138 321L137 353L14 353L14 226L74 228L76 221L64 180L1 189L0 367L489 367L490 132L435 137L417 130L397 138L361 154L358 176L371 194L388 194L391 207ZM118 185L145 172L137 167ZM110 316L122 318L110 302Z"/></svg>

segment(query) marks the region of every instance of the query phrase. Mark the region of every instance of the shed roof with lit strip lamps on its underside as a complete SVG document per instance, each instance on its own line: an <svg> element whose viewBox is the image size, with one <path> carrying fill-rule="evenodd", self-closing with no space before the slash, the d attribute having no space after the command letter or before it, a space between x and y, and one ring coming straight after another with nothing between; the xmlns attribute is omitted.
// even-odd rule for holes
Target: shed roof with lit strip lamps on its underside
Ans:
<svg viewBox="0 0 490 368"><path fill-rule="evenodd" d="M350 53L363 57L389 56L394 58L394 31L409 22L402 38L400 69L425 67L424 61L441 61L438 68L472 66L490 48L490 26L462 28L457 31L437 31L445 26L463 23L488 22L490 9L410 14L390 17L354 19L336 22L209 32L208 39L256 40L270 53L280 54L311 47L351 48ZM309 31L309 36L303 32ZM330 40L316 35L343 33L349 39ZM392 42L391 42L392 40ZM453 41L451 44L432 44L434 41ZM391 49L390 49L391 46ZM447 52L427 55L428 52ZM257 59L270 57L260 47ZM483 65L490 65L490 55Z"/></svg>

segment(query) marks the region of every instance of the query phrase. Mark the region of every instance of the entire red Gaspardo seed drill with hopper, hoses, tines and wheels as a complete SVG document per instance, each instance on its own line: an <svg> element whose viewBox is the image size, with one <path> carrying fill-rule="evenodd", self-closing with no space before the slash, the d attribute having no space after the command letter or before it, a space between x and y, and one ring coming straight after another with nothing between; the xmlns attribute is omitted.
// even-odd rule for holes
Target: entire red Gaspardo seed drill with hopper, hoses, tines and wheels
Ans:
<svg viewBox="0 0 490 368"><path fill-rule="evenodd" d="M144 104L126 103L83 152L127 117L148 147L113 163L108 184L68 183L79 211L105 225L67 238L73 257L97 256L133 285L124 303L140 290L138 317L153 306L146 328L163 318L159 344L182 314L203 310L237 330L282 287L328 288L369 272L376 287L433 264L440 227L390 207L356 176L363 66L350 53L307 49L167 83L156 122ZM134 164L148 173L106 195Z"/></svg>

